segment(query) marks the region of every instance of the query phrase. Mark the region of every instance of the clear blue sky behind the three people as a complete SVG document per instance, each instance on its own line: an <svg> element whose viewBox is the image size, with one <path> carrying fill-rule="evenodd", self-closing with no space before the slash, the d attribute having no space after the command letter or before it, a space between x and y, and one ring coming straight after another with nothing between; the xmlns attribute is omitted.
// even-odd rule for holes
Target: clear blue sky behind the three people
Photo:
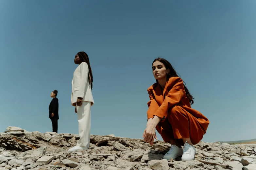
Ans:
<svg viewBox="0 0 256 170"><path fill-rule="evenodd" d="M167 59L210 125L203 141L256 138L256 1L0 1L0 132L78 134L71 81L77 52L94 76L91 134L142 138L155 83ZM160 135L158 135L161 139Z"/></svg>

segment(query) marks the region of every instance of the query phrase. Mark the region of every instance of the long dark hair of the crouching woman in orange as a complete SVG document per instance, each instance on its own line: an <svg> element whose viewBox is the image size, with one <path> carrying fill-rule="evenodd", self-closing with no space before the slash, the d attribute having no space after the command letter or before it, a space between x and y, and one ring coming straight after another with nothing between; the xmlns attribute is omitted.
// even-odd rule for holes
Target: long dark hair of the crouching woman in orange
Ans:
<svg viewBox="0 0 256 170"><path fill-rule="evenodd" d="M168 62L167 60L165 60L164 58L156 58L153 63L155 63L156 61L159 61L161 62L166 70L170 69L170 72L167 74L167 80L171 77L179 77L178 76L178 73L175 71L175 69L173 68L172 64L170 62ZM153 63L152 63L152 66L153 66ZM158 80L156 80L158 82ZM183 81L184 82L184 81ZM194 98L193 96L190 94L189 90L187 89L186 87L186 83L184 82L183 83L184 85L184 89L185 89L185 92L186 92L186 95L187 95L187 98L189 99L189 102L191 103L191 105L193 105L194 103Z"/></svg>

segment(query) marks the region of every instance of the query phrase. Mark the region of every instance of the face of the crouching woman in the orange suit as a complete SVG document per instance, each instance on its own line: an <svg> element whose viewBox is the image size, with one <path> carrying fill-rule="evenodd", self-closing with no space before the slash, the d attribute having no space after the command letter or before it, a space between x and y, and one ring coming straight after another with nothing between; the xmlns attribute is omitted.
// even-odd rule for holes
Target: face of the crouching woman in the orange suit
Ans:
<svg viewBox="0 0 256 170"><path fill-rule="evenodd" d="M164 64L162 64L159 61L156 61L153 63L152 71L153 71L154 78L157 80L165 78L166 75L169 73L169 69L166 70Z"/></svg>

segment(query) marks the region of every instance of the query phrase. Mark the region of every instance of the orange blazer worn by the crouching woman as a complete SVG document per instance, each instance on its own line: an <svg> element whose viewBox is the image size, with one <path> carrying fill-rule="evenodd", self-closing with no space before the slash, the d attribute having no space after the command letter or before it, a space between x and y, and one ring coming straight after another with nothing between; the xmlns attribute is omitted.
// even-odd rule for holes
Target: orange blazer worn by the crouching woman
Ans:
<svg viewBox="0 0 256 170"><path fill-rule="evenodd" d="M179 77L171 77L166 81L163 95L159 83L155 83L147 89L150 101L147 103L147 119L158 116L161 122L166 120L169 109L180 106L192 114L206 132L210 121L199 111L192 109L184 90L183 81Z"/></svg>

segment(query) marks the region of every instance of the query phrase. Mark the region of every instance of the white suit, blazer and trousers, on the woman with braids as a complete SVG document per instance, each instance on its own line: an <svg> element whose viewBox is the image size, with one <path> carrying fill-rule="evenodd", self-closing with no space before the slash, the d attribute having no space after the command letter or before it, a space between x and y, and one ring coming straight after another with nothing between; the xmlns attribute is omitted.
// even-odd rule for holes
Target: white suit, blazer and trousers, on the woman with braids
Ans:
<svg viewBox="0 0 256 170"><path fill-rule="evenodd" d="M82 106L77 107L80 139L77 146L89 147L91 130L91 106L94 104L91 84L88 81L89 68L82 62L74 72L72 80L71 104L76 106L77 97L82 97Z"/></svg>

